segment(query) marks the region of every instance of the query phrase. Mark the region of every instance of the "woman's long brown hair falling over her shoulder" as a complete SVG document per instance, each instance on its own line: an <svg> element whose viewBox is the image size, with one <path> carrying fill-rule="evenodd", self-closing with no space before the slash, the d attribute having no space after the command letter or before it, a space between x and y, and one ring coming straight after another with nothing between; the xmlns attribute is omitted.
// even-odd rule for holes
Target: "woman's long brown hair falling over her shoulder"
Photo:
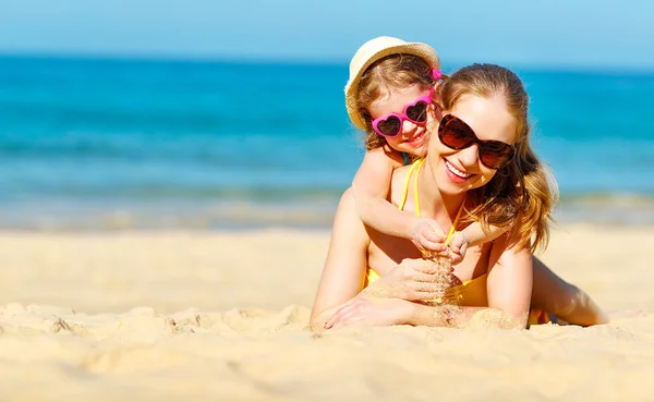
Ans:
<svg viewBox="0 0 654 402"><path fill-rule="evenodd" d="M520 78L494 64L473 64L453 73L437 88L444 110L452 110L464 95L500 96L518 123L516 156L491 182L468 192L467 208L484 231L489 226L510 228L509 244L545 249L552 209L558 191L549 170L530 146L529 97Z"/></svg>

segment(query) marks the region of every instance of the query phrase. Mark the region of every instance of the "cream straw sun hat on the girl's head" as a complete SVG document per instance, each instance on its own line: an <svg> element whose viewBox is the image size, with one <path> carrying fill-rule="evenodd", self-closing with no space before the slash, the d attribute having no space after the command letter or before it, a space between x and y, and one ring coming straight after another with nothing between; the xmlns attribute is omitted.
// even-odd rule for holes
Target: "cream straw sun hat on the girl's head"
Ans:
<svg viewBox="0 0 654 402"><path fill-rule="evenodd" d="M423 58L429 65L440 70L438 53L431 46L420 42L407 42L390 36L379 36L363 44L350 61L350 80L346 85L346 107L352 123L365 130L365 120L356 107L355 95L363 72L375 61L389 54L413 54Z"/></svg>

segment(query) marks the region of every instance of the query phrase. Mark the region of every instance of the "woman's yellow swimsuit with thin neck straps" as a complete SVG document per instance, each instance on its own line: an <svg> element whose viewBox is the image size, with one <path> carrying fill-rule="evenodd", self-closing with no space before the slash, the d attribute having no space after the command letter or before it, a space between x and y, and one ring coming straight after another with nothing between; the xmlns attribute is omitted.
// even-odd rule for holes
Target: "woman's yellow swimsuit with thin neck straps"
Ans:
<svg viewBox="0 0 654 402"><path fill-rule="evenodd" d="M407 180L404 181L404 191L402 193L402 199L400 200L400 205L398 205L398 209L402 210L404 208L404 204L407 203L407 195L409 194L409 181L411 180L411 175L413 174L413 171L415 170L415 176L413 179L413 197L414 197L414 203L415 203L415 216L416 217L420 217L420 200L419 200L419 196L417 196L417 173L424 161L425 161L424 159L420 159L420 160L416 160L415 162L413 162L413 165L411 166L411 169L409 170L409 173L407 174ZM450 240L452 239L452 235L455 234L456 227L457 227L457 223L459 222L459 218L461 217L462 210L463 210L463 203L461 203L461 207L459 207L457 217L455 218L455 221L452 222L452 226L449 230L449 233L445 241L446 245L450 242ZM424 252L423 252L423 254L424 254ZM446 303L458 304L460 306L474 306L474 307L488 306L488 295L486 293L487 277L488 277L488 273L486 272L476 278L468 280L461 284L449 288L446 291L445 296L443 297L441 301L444 301ZM365 277L364 288L367 287L368 284L373 283L377 279L379 279L379 273L377 271L375 271L373 268L368 267L366 277ZM540 310L540 309L532 309L530 312L530 317L529 317L530 325L546 324L549 321L550 321L550 317L546 312Z"/></svg>

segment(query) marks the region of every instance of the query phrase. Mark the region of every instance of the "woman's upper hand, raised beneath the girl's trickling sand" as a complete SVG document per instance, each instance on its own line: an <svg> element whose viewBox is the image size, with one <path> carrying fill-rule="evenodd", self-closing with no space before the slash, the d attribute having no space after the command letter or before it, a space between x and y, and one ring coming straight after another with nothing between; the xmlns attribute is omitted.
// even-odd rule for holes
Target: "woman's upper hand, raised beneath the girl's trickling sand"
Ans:
<svg viewBox="0 0 654 402"><path fill-rule="evenodd" d="M445 295L449 283L439 283L436 273L434 261L405 258L389 273L364 289L361 294L373 299L402 299L416 302L440 299Z"/></svg>

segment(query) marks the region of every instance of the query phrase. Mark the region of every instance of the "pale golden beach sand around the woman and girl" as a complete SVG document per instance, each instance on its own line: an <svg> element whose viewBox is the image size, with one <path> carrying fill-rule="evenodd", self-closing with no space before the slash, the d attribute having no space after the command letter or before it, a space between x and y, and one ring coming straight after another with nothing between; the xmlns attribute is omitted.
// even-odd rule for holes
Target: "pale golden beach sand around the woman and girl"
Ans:
<svg viewBox="0 0 654 402"><path fill-rule="evenodd" d="M609 325L313 334L327 231L0 232L1 401L651 401L654 228L542 258ZM579 252L586 249L588 252Z"/></svg>

